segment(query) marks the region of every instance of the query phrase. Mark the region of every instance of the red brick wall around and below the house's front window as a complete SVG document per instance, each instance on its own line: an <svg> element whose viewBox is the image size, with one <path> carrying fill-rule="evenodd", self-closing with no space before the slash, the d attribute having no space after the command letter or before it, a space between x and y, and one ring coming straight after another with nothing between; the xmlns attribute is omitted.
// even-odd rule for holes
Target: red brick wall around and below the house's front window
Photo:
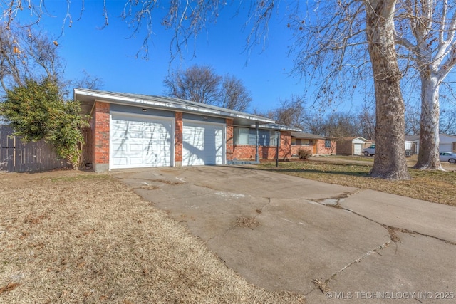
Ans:
<svg viewBox="0 0 456 304"><path fill-rule="evenodd" d="M259 159L275 159L276 147L258 147ZM233 159L249 159L254 160L257 154L257 146L255 145L234 145ZM291 157L291 132L280 132L280 147L279 159Z"/></svg>

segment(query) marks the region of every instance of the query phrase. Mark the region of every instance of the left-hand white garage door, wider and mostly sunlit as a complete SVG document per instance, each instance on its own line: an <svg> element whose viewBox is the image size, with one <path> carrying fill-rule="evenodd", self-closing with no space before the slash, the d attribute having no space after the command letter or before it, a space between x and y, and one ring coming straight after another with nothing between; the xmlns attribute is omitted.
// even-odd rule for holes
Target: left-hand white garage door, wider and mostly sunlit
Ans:
<svg viewBox="0 0 456 304"><path fill-rule="evenodd" d="M172 165L172 118L111 112L110 169Z"/></svg>

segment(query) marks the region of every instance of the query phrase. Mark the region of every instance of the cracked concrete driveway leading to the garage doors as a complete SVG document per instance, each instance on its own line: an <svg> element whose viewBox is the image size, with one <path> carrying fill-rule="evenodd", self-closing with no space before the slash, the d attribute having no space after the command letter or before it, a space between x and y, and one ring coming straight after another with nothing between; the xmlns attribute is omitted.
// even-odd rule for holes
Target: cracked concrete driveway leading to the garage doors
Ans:
<svg viewBox="0 0 456 304"><path fill-rule="evenodd" d="M308 303L456 301L456 208L252 167L113 172L229 268Z"/></svg>

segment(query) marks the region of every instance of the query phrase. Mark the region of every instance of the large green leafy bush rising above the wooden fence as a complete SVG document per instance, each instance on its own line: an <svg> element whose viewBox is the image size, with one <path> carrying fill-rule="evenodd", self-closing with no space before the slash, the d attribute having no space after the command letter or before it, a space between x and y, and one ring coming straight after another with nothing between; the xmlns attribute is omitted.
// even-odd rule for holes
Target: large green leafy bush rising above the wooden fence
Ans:
<svg viewBox="0 0 456 304"><path fill-rule="evenodd" d="M26 80L24 86L6 91L0 104L3 115L24 142L44 139L74 169L78 167L84 138L81 128L87 122L79 114L80 106L64 100L58 85L46 78L41 83Z"/></svg>

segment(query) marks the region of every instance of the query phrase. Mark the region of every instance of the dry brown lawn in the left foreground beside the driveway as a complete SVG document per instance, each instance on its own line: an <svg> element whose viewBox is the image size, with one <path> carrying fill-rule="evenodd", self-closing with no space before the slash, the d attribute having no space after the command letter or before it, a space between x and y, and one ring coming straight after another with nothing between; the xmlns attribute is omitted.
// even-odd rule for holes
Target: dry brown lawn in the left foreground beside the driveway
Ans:
<svg viewBox="0 0 456 304"><path fill-rule="evenodd" d="M0 303L303 303L257 288L109 175L0 174Z"/></svg>

